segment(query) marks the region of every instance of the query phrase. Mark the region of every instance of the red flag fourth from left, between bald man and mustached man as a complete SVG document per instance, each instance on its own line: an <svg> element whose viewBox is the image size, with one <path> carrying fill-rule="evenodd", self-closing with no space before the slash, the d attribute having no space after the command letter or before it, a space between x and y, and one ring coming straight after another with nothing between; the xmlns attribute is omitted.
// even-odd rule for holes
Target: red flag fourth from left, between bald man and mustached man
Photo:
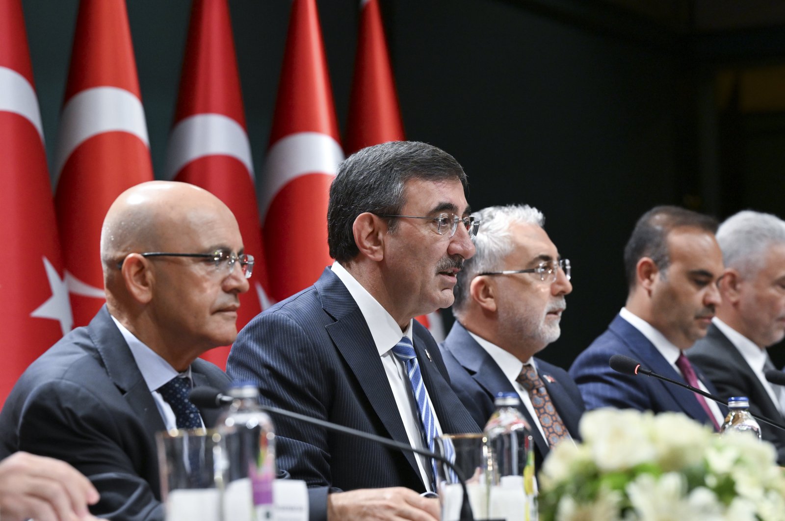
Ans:
<svg viewBox="0 0 785 521"><path fill-rule="evenodd" d="M310 286L331 264L327 199L343 159L338 140L316 0L294 0L260 200L277 301Z"/></svg>

